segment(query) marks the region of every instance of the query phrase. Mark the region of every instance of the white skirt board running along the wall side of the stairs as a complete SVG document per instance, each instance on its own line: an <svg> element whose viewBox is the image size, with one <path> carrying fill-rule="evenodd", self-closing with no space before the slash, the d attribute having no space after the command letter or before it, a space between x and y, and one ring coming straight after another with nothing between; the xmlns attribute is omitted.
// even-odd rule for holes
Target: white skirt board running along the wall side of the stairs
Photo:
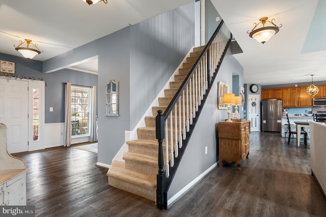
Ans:
<svg viewBox="0 0 326 217"><path fill-rule="evenodd" d="M165 89L169 89L170 87L170 82L174 82L174 75L179 74L179 69L183 68L182 64L186 62L186 59L188 57L190 57L190 53L193 52L194 47L192 47L188 53L186 54L186 56L184 57L184 59L181 61L181 63L179 64L179 66L177 67L177 69L173 72L173 74L171 75L170 79L167 81L167 83L165 84L165 86L162 88L162 90L158 93L158 95L156 96L156 98L153 100L153 102L149 105L147 111L144 113L143 117L140 119L140 121L138 122L138 124L132 129L132 130L125 130L124 133L124 144L121 146L120 150L117 152L117 154L115 155L115 157L112 159L112 162L114 160L118 160L118 161L122 161L124 162L123 159L123 154L124 152L128 151L128 144L126 143L126 141L130 141L130 140L137 140L138 136L137 136L137 129L140 127L145 127L145 117L147 116L152 116L152 107L153 106L158 106L158 98L160 97L164 97L164 90ZM109 166L110 168L110 166Z"/></svg>

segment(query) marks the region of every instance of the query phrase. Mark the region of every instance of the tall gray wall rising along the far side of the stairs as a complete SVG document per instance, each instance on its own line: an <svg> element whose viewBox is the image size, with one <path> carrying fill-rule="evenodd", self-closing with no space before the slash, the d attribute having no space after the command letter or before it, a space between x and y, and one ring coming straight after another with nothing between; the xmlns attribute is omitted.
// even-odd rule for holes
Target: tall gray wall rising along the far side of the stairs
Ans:
<svg viewBox="0 0 326 217"><path fill-rule="evenodd" d="M131 26L130 129L194 46L194 11L191 3Z"/></svg>

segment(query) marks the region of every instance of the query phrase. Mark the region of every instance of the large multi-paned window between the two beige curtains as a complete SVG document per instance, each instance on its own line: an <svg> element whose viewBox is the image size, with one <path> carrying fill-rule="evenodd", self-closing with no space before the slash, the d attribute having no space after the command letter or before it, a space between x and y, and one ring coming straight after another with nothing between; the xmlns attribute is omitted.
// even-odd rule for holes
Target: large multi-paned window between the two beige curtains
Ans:
<svg viewBox="0 0 326 217"><path fill-rule="evenodd" d="M90 88L71 86L71 137L89 135Z"/></svg>

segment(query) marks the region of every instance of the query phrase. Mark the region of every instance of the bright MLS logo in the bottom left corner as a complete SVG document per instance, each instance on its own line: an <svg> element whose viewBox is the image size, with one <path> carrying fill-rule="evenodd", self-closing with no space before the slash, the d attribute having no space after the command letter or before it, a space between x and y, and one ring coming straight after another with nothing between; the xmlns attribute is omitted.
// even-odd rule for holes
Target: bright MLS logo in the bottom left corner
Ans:
<svg viewBox="0 0 326 217"><path fill-rule="evenodd" d="M3 206L0 211L1 216L23 216L34 217L35 206Z"/></svg>

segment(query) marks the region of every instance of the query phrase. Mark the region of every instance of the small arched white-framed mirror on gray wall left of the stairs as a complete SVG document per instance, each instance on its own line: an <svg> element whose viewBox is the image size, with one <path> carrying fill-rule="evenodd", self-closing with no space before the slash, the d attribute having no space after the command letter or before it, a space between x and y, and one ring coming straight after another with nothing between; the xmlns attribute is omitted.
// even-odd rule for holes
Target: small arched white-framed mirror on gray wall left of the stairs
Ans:
<svg viewBox="0 0 326 217"><path fill-rule="evenodd" d="M105 115L118 115L118 82L110 80L105 84Z"/></svg>

